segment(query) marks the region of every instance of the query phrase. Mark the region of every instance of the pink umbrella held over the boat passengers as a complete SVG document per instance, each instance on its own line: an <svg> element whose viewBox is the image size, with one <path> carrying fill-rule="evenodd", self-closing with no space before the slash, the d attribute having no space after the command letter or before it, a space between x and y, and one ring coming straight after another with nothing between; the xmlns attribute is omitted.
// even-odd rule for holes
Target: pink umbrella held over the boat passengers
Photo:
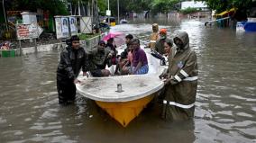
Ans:
<svg viewBox="0 0 256 143"><path fill-rule="evenodd" d="M123 32L109 32L103 40L109 40L111 38L114 38L114 44L119 47L125 43L125 35Z"/></svg>

